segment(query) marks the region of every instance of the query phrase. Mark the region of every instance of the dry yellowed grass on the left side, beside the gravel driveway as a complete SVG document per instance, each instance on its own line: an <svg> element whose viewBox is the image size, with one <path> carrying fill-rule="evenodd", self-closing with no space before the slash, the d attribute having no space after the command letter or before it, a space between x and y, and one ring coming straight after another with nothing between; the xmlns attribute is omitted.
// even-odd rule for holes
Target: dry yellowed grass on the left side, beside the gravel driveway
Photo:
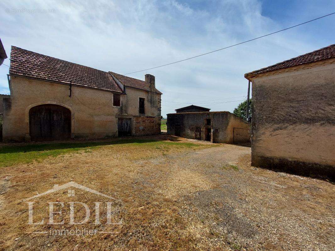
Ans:
<svg viewBox="0 0 335 251"><path fill-rule="evenodd" d="M159 139L158 139L159 140ZM83 145L84 144L84 145ZM48 145L50 151L64 147L66 144ZM75 150L60 155L38 156L37 161L30 158L29 146L16 146L23 162L2 168L3 191L0 213L0 230L2 238L0 247L9 250L110 250L111 247L119 250L143 249L192 249L192 237L187 233L186 222L178 215L176 202L167 198L153 197L154 187L151 183L136 185L138 177L148 177L155 171L154 165L150 168L141 164L153 157L183 153L212 147L209 144L194 144L190 142L173 142L169 140L156 141L132 140L113 142L79 143ZM72 146L73 147L73 146ZM8 148L6 146L6 148ZM37 156L33 145L31 149ZM10 147L13 152L15 147ZM66 147L71 149L71 146ZM5 152L7 149L3 150ZM48 151L49 151L48 150ZM58 153L58 152L57 152ZM10 153L12 154L12 153ZM28 163L22 155L29 156ZM57 156L58 155L58 156ZM138 164L136 164L138 162ZM104 231L117 231L117 234L99 234L86 237L52 237L40 234L27 234L32 231L48 231L50 225L27 225L28 207L22 199L49 190L54 184L64 184L75 181L81 185L99 192L114 196L122 201L117 208L118 217L123 219L121 226L103 225ZM148 181L148 182L149 182ZM75 191L75 197L67 197L67 191L43 196L34 205L34 221L39 222L48 217L45 204L48 201L64 201L63 212L69 212L67 201L81 201L90 206L94 212L93 202L104 201L96 195L80 190ZM57 211L58 209L55 209ZM101 208L101 221L104 223L106 207ZM80 215L80 214L78 214ZM91 219L92 218L92 219ZM81 228L92 228L94 213L87 225ZM55 218L57 222L69 222L68 214ZM57 226L52 226L57 229ZM74 229L68 224L65 229ZM63 229L64 229L63 228ZM94 228L94 226L93 226ZM125 246L126 245L126 246Z"/></svg>

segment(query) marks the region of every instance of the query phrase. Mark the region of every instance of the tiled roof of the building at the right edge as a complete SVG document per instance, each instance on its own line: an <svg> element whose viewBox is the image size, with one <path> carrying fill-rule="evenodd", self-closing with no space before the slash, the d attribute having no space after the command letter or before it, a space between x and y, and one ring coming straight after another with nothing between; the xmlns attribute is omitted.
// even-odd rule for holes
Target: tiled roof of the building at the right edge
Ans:
<svg viewBox="0 0 335 251"><path fill-rule="evenodd" d="M319 50L316 50L316 51L313 51L307 54L304 54L304 55L301 55L301 56L298 56L298 57L295 57L295 58L291 58L289 60L285 60L278 64L271 65L269 67L262 68L257 71L246 73L244 74L244 77L248 79L258 74L282 70L282 69L299 66L299 65L315 63L318 61L332 59L332 58L335 58L335 44L321 48Z"/></svg>

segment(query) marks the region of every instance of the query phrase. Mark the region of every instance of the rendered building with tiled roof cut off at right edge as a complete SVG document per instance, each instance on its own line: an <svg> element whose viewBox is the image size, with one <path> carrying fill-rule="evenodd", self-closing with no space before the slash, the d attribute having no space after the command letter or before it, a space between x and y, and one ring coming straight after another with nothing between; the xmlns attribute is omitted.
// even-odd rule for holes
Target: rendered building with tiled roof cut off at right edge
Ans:
<svg viewBox="0 0 335 251"><path fill-rule="evenodd" d="M335 45L245 74L252 165L335 176Z"/></svg>

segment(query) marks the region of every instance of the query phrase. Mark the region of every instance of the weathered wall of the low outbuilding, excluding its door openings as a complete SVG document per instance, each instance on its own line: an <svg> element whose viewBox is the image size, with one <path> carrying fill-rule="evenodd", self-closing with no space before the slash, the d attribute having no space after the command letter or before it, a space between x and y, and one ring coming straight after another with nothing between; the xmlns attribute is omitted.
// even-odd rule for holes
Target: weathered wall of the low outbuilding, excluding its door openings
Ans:
<svg viewBox="0 0 335 251"><path fill-rule="evenodd" d="M207 125L205 120L211 119L211 125ZM228 111L213 112L185 112L167 114L167 134L178 135L189 139L196 138L196 128L201 128L202 140L204 140L204 130L213 129L213 142L233 143L233 129L250 129L250 124ZM177 129L177 130L176 130Z"/></svg>

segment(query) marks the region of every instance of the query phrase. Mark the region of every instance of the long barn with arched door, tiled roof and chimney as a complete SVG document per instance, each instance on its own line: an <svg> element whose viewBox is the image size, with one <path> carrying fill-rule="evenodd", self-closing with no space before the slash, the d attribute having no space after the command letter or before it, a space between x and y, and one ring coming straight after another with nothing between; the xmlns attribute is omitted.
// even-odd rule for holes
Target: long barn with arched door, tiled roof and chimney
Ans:
<svg viewBox="0 0 335 251"><path fill-rule="evenodd" d="M11 48L4 141L160 133L161 92L145 81Z"/></svg>

